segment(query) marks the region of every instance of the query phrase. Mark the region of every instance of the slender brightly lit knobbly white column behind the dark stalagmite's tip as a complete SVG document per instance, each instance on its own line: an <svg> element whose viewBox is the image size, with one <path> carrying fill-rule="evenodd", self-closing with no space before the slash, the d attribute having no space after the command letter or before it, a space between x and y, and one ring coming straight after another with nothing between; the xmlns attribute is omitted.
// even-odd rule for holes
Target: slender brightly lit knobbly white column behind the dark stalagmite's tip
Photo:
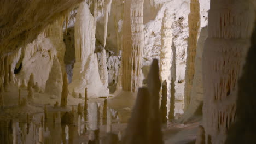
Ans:
<svg viewBox="0 0 256 144"><path fill-rule="evenodd" d="M161 27L161 49L160 49L160 78L161 82L166 80L167 88L170 86L170 68L171 68L171 56L172 56L172 21L170 20L170 14L167 13L165 9L164 17L162 18L162 27ZM167 94L169 92L167 91Z"/></svg>

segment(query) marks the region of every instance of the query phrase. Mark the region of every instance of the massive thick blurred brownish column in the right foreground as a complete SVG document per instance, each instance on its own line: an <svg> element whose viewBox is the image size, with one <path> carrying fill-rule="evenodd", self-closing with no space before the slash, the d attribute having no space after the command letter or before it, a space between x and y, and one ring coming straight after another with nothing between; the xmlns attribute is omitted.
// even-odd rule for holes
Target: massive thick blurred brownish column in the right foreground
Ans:
<svg viewBox="0 0 256 144"><path fill-rule="evenodd" d="M236 118L237 81L249 48L255 13L251 1L224 0L211 1L208 15L208 38L202 58L203 127L207 144L222 144Z"/></svg>

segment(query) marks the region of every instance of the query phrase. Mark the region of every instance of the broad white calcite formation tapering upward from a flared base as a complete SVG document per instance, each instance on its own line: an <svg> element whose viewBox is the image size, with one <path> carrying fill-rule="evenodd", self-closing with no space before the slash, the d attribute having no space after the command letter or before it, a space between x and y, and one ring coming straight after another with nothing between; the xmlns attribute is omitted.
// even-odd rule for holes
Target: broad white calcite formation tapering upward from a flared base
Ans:
<svg viewBox="0 0 256 144"><path fill-rule="evenodd" d="M95 21L86 2L79 5L75 22L75 64L69 88L76 93L100 96L108 94L101 82L95 50Z"/></svg>

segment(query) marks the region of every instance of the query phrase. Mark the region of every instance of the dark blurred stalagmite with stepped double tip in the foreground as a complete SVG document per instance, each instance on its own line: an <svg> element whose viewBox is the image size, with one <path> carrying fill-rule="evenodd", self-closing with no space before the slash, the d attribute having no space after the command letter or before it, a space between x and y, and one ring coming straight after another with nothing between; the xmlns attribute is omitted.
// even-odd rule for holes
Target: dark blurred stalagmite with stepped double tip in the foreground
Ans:
<svg viewBox="0 0 256 144"><path fill-rule="evenodd" d="M138 89L136 104L122 140L124 144L164 143L159 110L160 88L158 60L154 59L148 74L148 88Z"/></svg>

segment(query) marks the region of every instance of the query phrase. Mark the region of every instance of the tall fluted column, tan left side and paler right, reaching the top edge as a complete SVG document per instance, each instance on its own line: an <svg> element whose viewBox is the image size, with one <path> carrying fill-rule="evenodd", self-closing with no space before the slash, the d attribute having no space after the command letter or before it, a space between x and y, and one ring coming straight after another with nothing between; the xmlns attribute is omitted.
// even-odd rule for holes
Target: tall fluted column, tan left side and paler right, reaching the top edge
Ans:
<svg viewBox="0 0 256 144"><path fill-rule="evenodd" d="M142 86L142 55L144 47L143 0L124 2L122 88L135 92Z"/></svg>

